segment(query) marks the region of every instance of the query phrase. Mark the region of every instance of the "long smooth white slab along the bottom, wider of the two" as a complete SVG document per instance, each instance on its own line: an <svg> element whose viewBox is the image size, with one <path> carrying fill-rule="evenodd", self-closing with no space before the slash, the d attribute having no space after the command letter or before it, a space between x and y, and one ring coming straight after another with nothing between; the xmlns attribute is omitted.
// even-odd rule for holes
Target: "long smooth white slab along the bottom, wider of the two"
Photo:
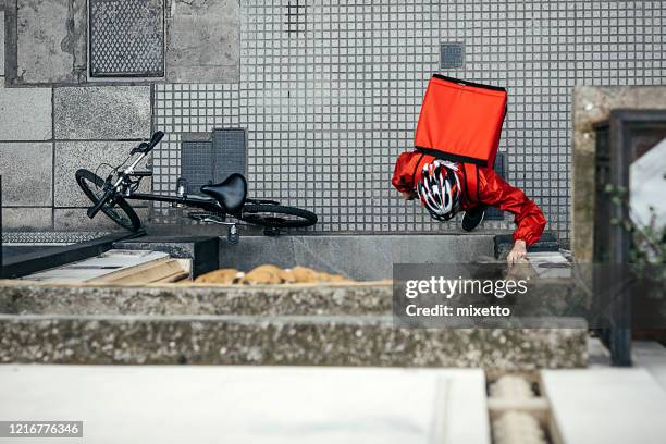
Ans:
<svg viewBox="0 0 666 444"><path fill-rule="evenodd" d="M77 418L90 443L486 444L484 385L480 370L1 366L0 415Z"/></svg>

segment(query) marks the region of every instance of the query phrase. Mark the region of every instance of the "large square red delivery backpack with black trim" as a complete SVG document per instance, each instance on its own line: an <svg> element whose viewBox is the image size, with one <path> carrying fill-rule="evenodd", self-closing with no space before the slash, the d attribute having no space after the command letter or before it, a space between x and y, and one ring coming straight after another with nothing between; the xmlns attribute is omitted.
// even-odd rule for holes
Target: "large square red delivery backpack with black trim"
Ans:
<svg viewBox="0 0 666 444"><path fill-rule="evenodd" d="M416 151L398 158L393 185L414 189L433 158L460 162L470 201L478 200L479 166L493 166L506 115L506 89L434 74L417 125Z"/></svg>

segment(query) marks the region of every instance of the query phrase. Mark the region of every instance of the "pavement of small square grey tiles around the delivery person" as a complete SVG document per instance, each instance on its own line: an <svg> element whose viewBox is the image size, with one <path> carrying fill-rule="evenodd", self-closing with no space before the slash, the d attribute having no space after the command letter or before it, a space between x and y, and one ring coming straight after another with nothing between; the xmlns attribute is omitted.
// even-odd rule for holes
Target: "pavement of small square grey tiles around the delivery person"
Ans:
<svg viewBox="0 0 666 444"><path fill-rule="evenodd" d="M442 42L465 45L465 64L446 75L508 88L507 180L565 240L571 88L666 82L659 1L242 0L240 20L238 84L156 85L153 124L169 134L156 151L156 190L173 189L182 133L244 127L250 193L313 210L321 232L457 229L390 185ZM511 219L485 226L510 229Z"/></svg>

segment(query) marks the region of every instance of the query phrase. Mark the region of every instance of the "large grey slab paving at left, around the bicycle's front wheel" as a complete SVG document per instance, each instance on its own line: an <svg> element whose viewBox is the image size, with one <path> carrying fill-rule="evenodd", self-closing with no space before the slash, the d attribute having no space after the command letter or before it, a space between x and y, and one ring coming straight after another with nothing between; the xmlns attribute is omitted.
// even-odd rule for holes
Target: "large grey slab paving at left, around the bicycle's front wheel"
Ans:
<svg viewBox="0 0 666 444"><path fill-rule="evenodd" d="M89 201L74 173L118 165L150 136L149 86L0 88L3 225L18 231L118 230ZM99 174L108 174L102 166ZM150 190L150 181L144 181ZM138 208L146 218L147 209Z"/></svg>

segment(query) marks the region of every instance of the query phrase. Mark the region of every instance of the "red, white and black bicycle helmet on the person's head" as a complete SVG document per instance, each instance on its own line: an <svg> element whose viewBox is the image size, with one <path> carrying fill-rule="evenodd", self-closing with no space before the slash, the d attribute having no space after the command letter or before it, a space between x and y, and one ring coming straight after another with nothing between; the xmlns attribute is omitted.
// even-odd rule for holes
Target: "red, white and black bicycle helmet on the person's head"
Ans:
<svg viewBox="0 0 666 444"><path fill-rule="evenodd" d="M423 165L417 193L430 215L437 221L452 219L458 210L460 181L457 170L455 163L439 159Z"/></svg>

